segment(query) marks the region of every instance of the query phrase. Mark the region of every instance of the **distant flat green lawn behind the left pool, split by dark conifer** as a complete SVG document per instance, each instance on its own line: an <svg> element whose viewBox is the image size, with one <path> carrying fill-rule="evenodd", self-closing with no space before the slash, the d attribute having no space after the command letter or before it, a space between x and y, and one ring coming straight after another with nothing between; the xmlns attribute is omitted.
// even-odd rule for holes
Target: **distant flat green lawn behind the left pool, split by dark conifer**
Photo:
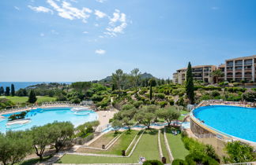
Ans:
<svg viewBox="0 0 256 165"><path fill-rule="evenodd" d="M10 101L13 101L14 103L25 103L28 101L28 97L17 97L17 96L14 96L14 97L5 97L7 98L8 100ZM56 98L55 97L47 97L47 96L37 96L37 102L50 102L50 101L55 101Z"/></svg>

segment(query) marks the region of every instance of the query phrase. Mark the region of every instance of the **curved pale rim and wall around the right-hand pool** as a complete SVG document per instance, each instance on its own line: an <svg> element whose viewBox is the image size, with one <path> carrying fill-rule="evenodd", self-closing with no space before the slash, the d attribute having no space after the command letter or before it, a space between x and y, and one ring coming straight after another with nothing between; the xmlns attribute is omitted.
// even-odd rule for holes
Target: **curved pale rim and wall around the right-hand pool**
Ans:
<svg viewBox="0 0 256 165"><path fill-rule="evenodd" d="M210 106L238 107L238 106L234 106L234 105L209 105L209 106L203 106L203 107L210 107ZM223 140L225 142L228 142L228 141L242 141L244 143L247 143L247 144L250 144L250 145L253 145L254 147L256 147L256 141L249 141L247 139L238 138L238 137L235 137L231 134L226 134L226 133L224 133L220 130L216 130L215 128L210 127L209 125L207 125L205 123L202 123L201 120L199 120L197 117L194 116L194 110L196 110L198 108L201 108L201 107L194 108L190 112L190 124L193 125L193 122L196 123L199 127L201 127L201 129L206 130L205 132L208 131L210 134L214 134L216 138L219 138L220 140ZM239 108L249 108L249 107L239 107ZM256 109L256 108L253 108L253 109ZM196 133L193 131L192 128L190 128L190 130L194 135L196 135Z"/></svg>

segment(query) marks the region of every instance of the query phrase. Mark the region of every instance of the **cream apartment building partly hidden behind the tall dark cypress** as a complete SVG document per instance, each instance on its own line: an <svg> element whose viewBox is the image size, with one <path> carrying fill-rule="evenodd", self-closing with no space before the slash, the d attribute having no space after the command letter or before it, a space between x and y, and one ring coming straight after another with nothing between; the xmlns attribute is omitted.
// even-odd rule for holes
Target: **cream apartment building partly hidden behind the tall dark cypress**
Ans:
<svg viewBox="0 0 256 165"><path fill-rule="evenodd" d="M212 72L216 70L214 65L198 65L192 67L193 79L205 83L213 83ZM173 83L183 84L186 81L186 68L178 69L173 75Z"/></svg>

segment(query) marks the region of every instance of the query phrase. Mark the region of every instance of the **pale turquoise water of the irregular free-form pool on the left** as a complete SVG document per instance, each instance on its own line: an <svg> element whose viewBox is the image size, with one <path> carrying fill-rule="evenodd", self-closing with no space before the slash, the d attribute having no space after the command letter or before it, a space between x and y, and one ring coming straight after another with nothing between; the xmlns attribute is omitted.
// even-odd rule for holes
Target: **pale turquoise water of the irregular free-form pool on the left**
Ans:
<svg viewBox="0 0 256 165"><path fill-rule="evenodd" d="M8 117L13 113L2 115L5 119L0 119L0 132L5 133L6 130L26 130L33 126L43 126L54 121L66 122L70 121L74 127L77 127L85 122L98 119L96 112L85 110L82 112L72 112L71 108L38 108L28 112L25 119L31 119L30 123L24 125L13 125L6 127Z"/></svg>

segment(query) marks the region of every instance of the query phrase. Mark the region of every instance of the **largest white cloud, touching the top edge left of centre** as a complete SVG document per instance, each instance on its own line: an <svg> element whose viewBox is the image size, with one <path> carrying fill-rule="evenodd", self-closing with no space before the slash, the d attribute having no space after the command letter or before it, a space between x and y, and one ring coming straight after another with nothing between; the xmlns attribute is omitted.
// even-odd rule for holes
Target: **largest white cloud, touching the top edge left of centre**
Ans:
<svg viewBox="0 0 256 165"><path fill-rule="evenodd" d="M86 23L86 19L88 19L90 16L88 13L92 13L91 9L85 7L82 9L77 9L69 2L65 1L62 2L62 6L58 6L54 0L47 0L47 3L58 12L58 16L69 20L81 19L84 23Z"/></svg>

